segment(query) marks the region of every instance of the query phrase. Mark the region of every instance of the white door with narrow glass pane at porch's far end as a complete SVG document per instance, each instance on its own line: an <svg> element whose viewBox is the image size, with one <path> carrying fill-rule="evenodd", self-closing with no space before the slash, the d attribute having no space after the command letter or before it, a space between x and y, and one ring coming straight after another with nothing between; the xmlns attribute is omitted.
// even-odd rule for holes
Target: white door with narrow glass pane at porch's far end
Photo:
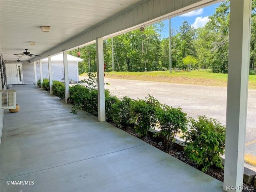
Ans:
<svg viewBox="0 0 256 192"><path fill-rule="evenodd" d="M21 64L6 64L7 84L22 84L22 66Z"/></svg>

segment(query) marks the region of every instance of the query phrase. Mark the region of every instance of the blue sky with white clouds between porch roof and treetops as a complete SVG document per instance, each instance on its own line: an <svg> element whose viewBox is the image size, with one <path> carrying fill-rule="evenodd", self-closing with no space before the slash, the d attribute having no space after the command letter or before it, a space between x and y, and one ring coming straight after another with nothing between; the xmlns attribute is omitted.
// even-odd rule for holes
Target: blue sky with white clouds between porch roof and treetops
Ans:
<svg viewBox="0 0 256 192"><path fill-rule="evenodd" d="M208 16L213 15L215 12L215 9L219 5L220 3L213 4L211 6L200 8L198 10L194 10L192 12L183 14L181 16L176 16L174 18L171 18L171 27L174 28L175 30L179 30L182 22L185 20L194 28L203 27L208 21ZM169 37L169 19L164 20L163 22L164 22L164 29L161 32L161 37L167 38Z"/></svg>

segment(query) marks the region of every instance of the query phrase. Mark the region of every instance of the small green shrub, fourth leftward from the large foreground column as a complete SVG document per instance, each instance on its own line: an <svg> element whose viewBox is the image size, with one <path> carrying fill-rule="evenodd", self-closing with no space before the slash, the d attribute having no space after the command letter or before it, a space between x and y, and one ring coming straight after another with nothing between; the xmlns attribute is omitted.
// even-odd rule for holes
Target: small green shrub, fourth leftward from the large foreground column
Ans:
<svg viewBox="0 0 256 192"><path fill-rule="evenodd" d="M133 123L132 102L133 100L131 98L124 96L121 100L118 100L112 105L112 118L115 124L127 128L128 125Z"/></svg>

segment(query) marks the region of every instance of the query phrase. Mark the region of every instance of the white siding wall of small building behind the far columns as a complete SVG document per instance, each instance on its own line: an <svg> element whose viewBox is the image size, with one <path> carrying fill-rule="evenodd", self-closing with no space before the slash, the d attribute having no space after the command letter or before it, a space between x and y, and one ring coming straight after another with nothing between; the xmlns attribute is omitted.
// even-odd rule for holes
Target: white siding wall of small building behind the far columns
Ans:
<svg viewBox="0 0 256 192"><path fill-rule="evenodd" d="M42 62L43 78L49 78L48 62ZM39 64L36 65L37 80L40 79ZM68 62L68 76L74 82L78 81L78 62ZM63 62L52 62L52 80L62 81L64 78Z"/></svg>

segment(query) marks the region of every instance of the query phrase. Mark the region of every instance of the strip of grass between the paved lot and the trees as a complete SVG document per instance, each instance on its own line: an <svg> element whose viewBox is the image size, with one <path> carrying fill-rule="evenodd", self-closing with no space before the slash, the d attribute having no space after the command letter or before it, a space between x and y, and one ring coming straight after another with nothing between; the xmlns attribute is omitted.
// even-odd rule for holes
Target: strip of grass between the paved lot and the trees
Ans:
<svg viewBox="0 0 256 192"><path fill-rule="evenodd" d="M155 71L155 72L105 72L105 78L133 79L145 81L171 82L181 84L227 86L228 74L203 71ZM80 76L86 76L82 74ZM249 88L256 89L256 75L249 75Z"/></svg>

